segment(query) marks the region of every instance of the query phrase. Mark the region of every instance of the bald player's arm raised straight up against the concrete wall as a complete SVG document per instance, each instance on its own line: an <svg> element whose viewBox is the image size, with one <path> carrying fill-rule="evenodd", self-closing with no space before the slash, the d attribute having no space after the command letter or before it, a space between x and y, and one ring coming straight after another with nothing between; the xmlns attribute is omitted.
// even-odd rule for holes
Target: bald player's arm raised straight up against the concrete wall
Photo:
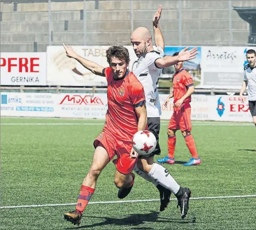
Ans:
<svg viewBox="0 0 256 230"><path fill-rule="evenodd" d="M154 29L154 38L155 38L156 46L162 47L162 49L164 50L165 49L164 37L159 27L159 19L161 18L161 12L162 12L162 5L159 5L157 9L157 13L155 13L153 18L153 29Z"/></svg>

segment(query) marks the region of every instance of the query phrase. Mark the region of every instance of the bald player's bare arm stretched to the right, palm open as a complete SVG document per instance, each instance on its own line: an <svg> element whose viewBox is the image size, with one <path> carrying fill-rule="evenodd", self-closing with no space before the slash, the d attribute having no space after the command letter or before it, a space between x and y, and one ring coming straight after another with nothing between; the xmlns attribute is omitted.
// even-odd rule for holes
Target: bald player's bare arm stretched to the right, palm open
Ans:
<svg viewBox="0 0 256 230"><path fill-rule="evenodd" d="M165 57L158 58L155 61L155 64L158 68L166 68L168 66L175 65L178 62L185 62L191 59L196 58L196 55L198 54L198 49L193 48L188 50L189 47L186 47L182 49L178 56L169 56L166 55Z"/></svg>

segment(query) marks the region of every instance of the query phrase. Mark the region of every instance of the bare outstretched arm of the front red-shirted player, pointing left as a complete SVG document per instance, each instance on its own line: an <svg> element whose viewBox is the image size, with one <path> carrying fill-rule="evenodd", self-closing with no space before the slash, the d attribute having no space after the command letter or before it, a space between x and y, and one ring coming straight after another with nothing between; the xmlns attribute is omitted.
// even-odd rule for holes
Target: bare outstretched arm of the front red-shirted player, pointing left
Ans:
<svg viewBox="0 0 256 230"><path fill-rule="evenodd" d="M66 50L66 55L67 57L72 57L74 59L76 59L76 61L78 61L79 63L81 63L81 65L83 65L87 70L90 70L92 73L99 75L99 76L105 76L103 75L102 71L103 71L103 67L99 66L97 63L89 61L81 56L79 56L77 53L74 52L74 50L72 49L71 46L66 45L64 43L63 47Z"/></svg>

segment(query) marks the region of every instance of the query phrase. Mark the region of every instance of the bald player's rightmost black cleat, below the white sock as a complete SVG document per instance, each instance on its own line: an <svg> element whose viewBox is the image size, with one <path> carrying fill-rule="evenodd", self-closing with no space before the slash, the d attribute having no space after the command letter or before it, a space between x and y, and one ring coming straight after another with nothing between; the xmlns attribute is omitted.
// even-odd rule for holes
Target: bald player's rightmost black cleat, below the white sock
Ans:
<svg viewBox="0 0 256 230"><path fill-rule="evenodd" d="M189 211L189 198L191 196L191 191L188 188L180 187L180 190L176 194L178 205L180 206L181 218L184 219Z"/></svg>

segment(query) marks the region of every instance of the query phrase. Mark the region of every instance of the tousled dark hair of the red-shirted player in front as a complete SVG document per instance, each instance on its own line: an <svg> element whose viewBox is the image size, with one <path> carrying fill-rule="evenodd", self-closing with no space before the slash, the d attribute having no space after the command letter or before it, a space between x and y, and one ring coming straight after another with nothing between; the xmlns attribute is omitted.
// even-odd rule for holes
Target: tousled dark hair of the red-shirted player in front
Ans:
<svg viewBox="0 0 256 230"><path fill-rule="evenodd" d="M130 62L129 51L122 45L110 46L106 51L106 54L107 54L106 56L107 56L107 61L109 65L111 63L112 57L116 57L119 60L123 60L126 62L126 64L129 64Z"/></svg>

